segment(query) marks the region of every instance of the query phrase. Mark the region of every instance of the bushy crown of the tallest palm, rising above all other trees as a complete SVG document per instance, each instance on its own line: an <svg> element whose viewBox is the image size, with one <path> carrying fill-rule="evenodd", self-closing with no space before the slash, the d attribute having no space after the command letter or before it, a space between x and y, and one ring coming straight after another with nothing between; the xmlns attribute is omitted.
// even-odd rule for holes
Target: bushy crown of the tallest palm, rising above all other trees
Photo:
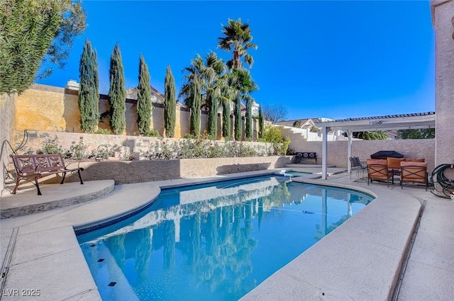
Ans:
<svg viewBox="0 0 454 301"><path fill-rule="evenodd" d="M238 21L228 19L228 25L223 25L222 33L225 37L218 38L218 47L227 51L233 50L233 59L227 62L228 69L243 68L242 58L252 67L254 59L248 54L248 49L257 49L258 46L251 42L253 36L249 23L243 24L240 18Z"/></svg>

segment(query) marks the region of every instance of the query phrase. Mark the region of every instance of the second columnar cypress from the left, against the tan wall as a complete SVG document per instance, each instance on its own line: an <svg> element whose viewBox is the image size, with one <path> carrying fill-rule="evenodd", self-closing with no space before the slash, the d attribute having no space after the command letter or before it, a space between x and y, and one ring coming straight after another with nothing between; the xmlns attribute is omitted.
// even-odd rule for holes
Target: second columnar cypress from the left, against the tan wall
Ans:
<svg viewBox="0 0 454 301"><path fill-rule="evenodd" d="M121 134L126 129L126 89L121 60L120 46L115 45L111 55L111 66L109 69L110 89L109 103L111 128L116 135Z"/></svg>

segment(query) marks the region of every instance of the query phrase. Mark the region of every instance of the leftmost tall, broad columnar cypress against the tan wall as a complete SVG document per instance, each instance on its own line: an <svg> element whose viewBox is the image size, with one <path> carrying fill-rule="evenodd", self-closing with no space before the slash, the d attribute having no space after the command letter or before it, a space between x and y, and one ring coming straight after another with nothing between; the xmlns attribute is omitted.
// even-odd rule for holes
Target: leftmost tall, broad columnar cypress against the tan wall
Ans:
<svg viewBox="0 0 454 301"><path fill-rule="evenodd" d="M96 52L88 39L80 57L79 77L80 127L83 132L94 132L99 122L99 75Z"/></svg>

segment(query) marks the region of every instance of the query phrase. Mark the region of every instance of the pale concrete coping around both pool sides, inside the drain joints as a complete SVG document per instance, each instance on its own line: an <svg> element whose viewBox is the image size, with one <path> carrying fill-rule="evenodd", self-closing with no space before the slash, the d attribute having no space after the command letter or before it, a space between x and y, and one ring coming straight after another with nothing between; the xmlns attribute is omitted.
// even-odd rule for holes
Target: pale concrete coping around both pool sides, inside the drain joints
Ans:
<svg viewBox="0 0 454 301"><path fill-rule="evenodd" d="M18 218L17 225L13 219L2 220L2 224L9 225L7 234L11 232L15 236L4 290L39 289L40 296L35 296L34 300L101 300L74 229L92 227L143 208L159 195L160 188L275 172L125 184L90 203ZM293 178L293 181L353 188L370 193L376 199L242 300L336 300L336 297L348 300L346 296L351 300L389 300L421 211L419 201L410 195L375 186L365 189L303 177ZM380 219L383 216L388 222ZM382 227L377 229L377 225ZM321 261L320 254L326 254L325 262ZM343 270L336 271L336 268ZM345 271L348 271L346 275ZM16 299L13 295L2 296L2 300Z"/></svg>

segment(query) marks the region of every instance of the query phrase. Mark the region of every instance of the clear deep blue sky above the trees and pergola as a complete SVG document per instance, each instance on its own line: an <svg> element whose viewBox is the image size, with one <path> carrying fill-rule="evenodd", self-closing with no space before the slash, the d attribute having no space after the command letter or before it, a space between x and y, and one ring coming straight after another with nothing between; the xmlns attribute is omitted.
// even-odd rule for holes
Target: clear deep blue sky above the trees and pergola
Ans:
<svg viewBox="0 0 454 301"><path fill-rule="evenodd" d="M177 93L182 69L217 48L228 18L248 22L258 50L250 69L255 101L282 104L287 120L354 118L435 110L435 32L429 1L84 1L88 27L65 69L39 84L79 81L88 38L98 53L100 90L118 42L126 88L138 84L142 54L164 91L167 65Z"/></svg>

